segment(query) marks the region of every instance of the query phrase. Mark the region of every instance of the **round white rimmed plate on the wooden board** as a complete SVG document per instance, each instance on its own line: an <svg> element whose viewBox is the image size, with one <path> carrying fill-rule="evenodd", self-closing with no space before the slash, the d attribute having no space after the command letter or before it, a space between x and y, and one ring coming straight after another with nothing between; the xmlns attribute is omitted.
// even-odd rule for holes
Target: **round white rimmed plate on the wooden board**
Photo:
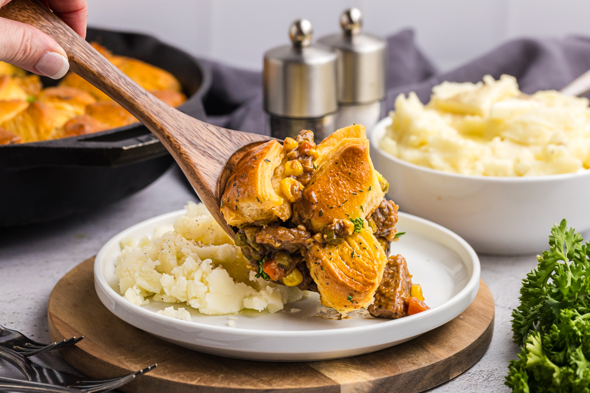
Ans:
<svg viewBox="0 0 590 393"><path fill-rule="evenodd" d="M325 318L327 308L319 296L297 300L277 313L257 311L237 315L235 326L228 316L202 315L191 309L192 321L158 315L168 307L150 302L136 306L119 294L114 263L120 254L119 240L127 236L152 237L155 227L172 224L185 214L179 210L146 220L114 236L96 256L94 286L101 302L136 328L166 341L208 354L266 361L315 361L367 354L401 344L458 316L477 295L480 263L474 250L444 227L400 213L398 230L407 232L392 243L392 253L403 255L422 285L430 310L401 319ZM300 309L291 312L291 309ZM324 314L324 318L318 316Z"/></svg>

